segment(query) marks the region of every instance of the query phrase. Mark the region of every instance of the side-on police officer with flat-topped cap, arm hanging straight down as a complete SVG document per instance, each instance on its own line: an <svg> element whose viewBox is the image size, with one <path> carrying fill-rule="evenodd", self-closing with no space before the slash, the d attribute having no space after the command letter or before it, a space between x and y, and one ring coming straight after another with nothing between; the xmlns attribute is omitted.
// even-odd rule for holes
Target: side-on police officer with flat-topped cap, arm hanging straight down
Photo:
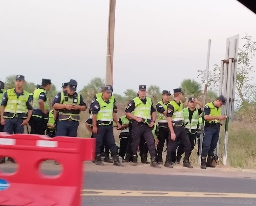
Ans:
<svg viewBox="0 0 256 206"><path fill-rule="evenodd" d="M180 88L174 89L174 100L167 105L167 121L168 127L171 132L171 140L168 142L167 146L167 158L164 166L173 167L173 156L176 155L177 141L181 141L184 145L185 157L183 161L183 166L193 168L189 162L190 156L190 141L188 134L184 128L184 118L183 118L183 104L181 99L183 97L182 90ZM175 156L176 158L176 156Z"/></svg>

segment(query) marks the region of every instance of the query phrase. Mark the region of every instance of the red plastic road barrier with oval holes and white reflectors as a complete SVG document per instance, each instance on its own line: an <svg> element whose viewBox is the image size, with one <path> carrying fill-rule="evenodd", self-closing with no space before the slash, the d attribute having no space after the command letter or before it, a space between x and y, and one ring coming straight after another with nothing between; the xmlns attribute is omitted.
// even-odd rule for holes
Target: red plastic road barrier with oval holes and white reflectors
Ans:
<svg viewBox="0 0 256 206"><path fill-rule="evenodd" d="M18 164L15 173L0 171L0 205L78 206L82 163L94 158L95 139L0 133L0 155ZM40 163L47 159L62 165L59 175L40 172Z"/></svg>

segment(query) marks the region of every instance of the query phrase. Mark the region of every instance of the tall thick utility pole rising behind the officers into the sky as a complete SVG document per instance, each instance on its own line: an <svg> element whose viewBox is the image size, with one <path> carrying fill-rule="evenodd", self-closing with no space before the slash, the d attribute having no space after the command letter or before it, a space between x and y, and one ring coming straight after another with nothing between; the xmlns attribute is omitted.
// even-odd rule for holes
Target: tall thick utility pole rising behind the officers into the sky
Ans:
<svg viewBox="0 0 256 206"><path fill-rule="evenodd" d="M106 62L106 79L105 79L105 84L110 84L110 85L113 85L115 9L116 9L116 0L109 0L108 37L107 37L107 62Z"/></svg>

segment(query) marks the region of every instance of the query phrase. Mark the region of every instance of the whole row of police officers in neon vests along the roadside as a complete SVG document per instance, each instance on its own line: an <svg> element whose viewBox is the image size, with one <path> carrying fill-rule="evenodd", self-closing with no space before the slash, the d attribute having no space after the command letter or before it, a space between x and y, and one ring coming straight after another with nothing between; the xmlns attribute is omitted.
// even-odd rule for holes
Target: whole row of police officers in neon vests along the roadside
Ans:
<svg viewBox="0 0 256 206"><path fill-rule="evenodd" d="M9 134L24 133L24 126L29 123L31 134L44 135L47 131L50 137L76 137L79 113L87 109L82 96L76 92L77 82L70 79L69 82L63 83L63 91L53 100L53 110L50 110L48 97L52 85L50 79L42 79L42 84L37 85L32 94L23 89L24 84L23 75L17 75L15 88L7 91L4 90L4 83L0 82L0 131ZM163 98L155 109L151 98L146 96L146 85L140 85L138 96L130 101L125 115L118 120L116 101L112 93L111 85L103 86L102 92L94 96L89 107L90 118L86 124L92 132L91 137L96 139L95 164L103 165L101 155L104 153L105 162L123 166L120 156L123 162L132 161L132 165L135 166L138 164L139 150L142 163L150 163L147 161L149 152L150 165L160 168L160 164L163 164L162 154L166 141L167 156L164 166L172 168L175 163L180 164L185 153L183 166L193 168L189 157L198 125L202 122L200 115L203 114L205 129L201 168L214 167L212 156L218 142L220 121L226 118L221 116L221 106L226 102L225 97L221 95L214 102L207 103L202 111L202 103L193 97L189 98L188 107L183 107L183 93L180 88L174 89L173 101L170 101L171 92L164 90ZM196 105L199 108L196 108ZM116 129L121 130L119 148L114 140L113 122L117 125ZM113 160L109 158L109 150ZM11 157L8 159L14 162ZM2 157L0 163L4 162L5 157Z"/></svg>

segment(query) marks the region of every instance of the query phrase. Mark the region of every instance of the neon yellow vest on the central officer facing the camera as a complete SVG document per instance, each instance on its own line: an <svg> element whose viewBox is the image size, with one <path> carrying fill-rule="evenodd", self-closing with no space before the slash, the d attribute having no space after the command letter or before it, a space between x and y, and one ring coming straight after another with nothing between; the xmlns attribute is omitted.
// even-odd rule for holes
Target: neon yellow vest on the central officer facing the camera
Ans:
<svg viewBox="0 0 256 206"><path fill-rule="evenodd" d="M149 97L146 97L146 104L143 104L141 99L139 97L136 97L133 99L135 104L135 109L133 115L136 117L140 117L144 119L144 122L147 124L151 121L151 106L152 106L152 100Z"/></svg>

